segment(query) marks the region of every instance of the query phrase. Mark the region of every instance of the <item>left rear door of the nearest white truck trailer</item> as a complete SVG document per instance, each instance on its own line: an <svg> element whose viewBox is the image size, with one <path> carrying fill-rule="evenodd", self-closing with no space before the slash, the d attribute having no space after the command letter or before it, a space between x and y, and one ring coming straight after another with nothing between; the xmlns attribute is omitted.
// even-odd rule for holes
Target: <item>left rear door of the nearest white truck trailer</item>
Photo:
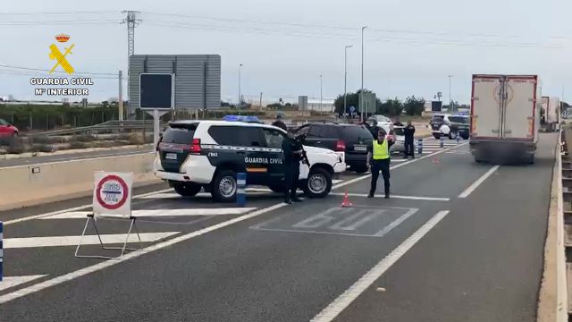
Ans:
<svg viewBox="0 0 572 322"><path fill-rule="evenodd" d="M473 75L472 138L501 138L501 80L501 75Z"/></svg>

